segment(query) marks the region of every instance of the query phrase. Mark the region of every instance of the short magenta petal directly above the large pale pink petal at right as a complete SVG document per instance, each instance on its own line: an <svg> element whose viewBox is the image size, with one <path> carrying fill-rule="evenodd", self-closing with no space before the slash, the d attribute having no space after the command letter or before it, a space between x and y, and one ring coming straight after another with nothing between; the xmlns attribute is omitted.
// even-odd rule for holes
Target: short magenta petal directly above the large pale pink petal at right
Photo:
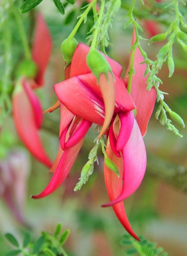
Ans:
<svg viewBox="0 0 187 256"><path fill-rule="evenodd" d="M126 143L129 140L129 137L131 136L132 127L134 124L134 112L128 111L128 112L122 112L119 113L119 119L120 119L120 131L119 136L117 138L117 144L116 144L116 150L121 151Z"/></svg>

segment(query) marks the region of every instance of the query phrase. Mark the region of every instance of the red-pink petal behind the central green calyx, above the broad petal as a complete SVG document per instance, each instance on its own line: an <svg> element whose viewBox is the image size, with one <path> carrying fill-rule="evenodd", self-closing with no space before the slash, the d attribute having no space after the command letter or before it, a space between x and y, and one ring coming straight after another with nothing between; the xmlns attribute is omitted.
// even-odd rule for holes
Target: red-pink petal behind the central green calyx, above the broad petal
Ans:
<svg viewBox="0 0 187 256"><path fill-rule="evenodd" d="M91 72L91 70L89 69L86 63L86 56L88 55L89 50L90 50L89 46L82 43L78 44L71 61L70 77L81 75L81 74L87 74ZM112 71L116 73L118 77L120 77L122 73L122 66L116 61L114 61L113 59L104 55L102 52L101 54L107 59L108 63L112 68Z"/></svg>

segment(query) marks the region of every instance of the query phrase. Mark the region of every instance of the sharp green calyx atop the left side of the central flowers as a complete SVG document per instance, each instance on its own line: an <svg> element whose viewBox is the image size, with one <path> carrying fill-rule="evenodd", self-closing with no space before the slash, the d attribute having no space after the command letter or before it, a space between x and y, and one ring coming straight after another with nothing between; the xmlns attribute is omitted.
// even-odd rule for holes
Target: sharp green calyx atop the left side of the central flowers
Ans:
<svg viewBox="0 0 187 256"><path fill-rule="evenodd" d="M65 67L67 67L71 63L74 51L77 48L78 44L79 43L75 38L73 39L67 38L62 42L61 52L62 52L64 61L66 62Z"/></svg>

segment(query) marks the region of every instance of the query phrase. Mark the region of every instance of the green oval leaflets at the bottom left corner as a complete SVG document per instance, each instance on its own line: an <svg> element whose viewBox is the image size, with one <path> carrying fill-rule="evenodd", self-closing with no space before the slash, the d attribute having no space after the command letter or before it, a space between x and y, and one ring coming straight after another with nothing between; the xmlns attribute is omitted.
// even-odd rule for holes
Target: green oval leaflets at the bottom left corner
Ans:
<svg viewBox="0 0 187 256"><path fill-rule="evenodd" d="M21 246L12 234L6 233L6 239L13 246L18 248L16 250L9 251L6 256L13 256L19 253L22 253L23 256L68 256L62 245L67 241L69 234L69 229L62 232L62 225L59 223L56 226L53 235L43 231L42 236L40 236L35 242L31 240L30 233L26 232Z"/></svg>

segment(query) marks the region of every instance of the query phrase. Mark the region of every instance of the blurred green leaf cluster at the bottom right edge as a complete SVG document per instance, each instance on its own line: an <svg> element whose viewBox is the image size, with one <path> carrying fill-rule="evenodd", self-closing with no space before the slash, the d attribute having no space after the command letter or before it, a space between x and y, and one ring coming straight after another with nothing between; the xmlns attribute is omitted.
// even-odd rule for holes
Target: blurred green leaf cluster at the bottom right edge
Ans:
<svg viewBox="0 0 187 256"><path fill-rule="evenodd" d="M157 247L156 242L150 242L139 236L140 242L132 238L132 236L123 235L122 245L126 247L126 255L134 256L167 256L168 253L162 247Z"/></svg>

